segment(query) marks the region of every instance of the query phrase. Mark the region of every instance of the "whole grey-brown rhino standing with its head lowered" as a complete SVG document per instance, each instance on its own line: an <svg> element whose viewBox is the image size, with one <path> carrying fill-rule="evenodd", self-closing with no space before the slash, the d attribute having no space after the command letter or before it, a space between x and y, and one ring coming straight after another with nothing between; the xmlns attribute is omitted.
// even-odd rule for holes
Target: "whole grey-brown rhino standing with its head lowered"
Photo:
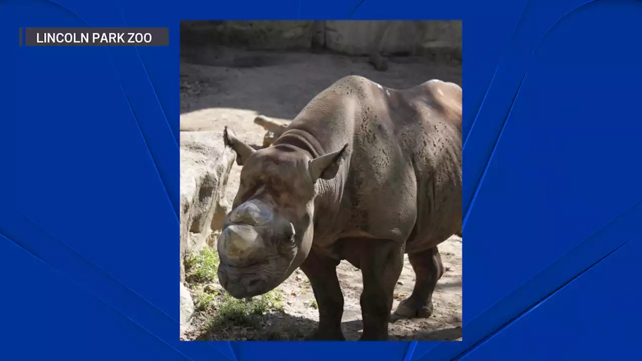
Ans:
<svg viewBox="0 0 642 361"><path fill-rule="evenodd" d="M272 146L225 128L241 186L218 240L221 285L243 298L300 267L317 298L313 340L344 340L340 260L363 273L361 340L386 340L408 253L417 274L396 310L429 317L437 245L462 229L462 89L431 80L397 91L347 76L318 94Z"/></svg>

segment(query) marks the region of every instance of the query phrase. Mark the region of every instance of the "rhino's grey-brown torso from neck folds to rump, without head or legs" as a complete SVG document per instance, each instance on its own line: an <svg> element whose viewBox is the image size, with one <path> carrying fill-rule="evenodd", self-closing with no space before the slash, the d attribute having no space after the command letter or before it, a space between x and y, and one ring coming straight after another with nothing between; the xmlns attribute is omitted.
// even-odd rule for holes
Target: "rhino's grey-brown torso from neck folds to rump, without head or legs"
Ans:
<svg viewBox="0 0 642 361"><path fill-rule="evenodd" d="M315 243L324 247L336 238L365 236L425 248L445 240L435 241L444 230L461 228L461 121L457 126L456 112L444 110L447 96L434 95L441 84L396 90L348 76L318 94L290 124L284 135L314 135L308 140L315 155L349 145L340 177L329 182L334 188L343 184L332 192L340 206L319 216Z"/></svg>

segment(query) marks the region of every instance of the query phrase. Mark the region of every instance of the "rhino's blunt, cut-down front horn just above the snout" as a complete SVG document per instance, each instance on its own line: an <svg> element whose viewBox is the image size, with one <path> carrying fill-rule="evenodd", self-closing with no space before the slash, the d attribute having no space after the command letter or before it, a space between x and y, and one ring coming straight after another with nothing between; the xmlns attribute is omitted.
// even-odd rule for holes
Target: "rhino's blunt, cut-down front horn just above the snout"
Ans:
<svg viewBox="0 0 642 361"><path fill-rule="evenodd" d="M245 263L265 256L261 235L249 225L230 225L218 238L218 253L233 263Z"/></svg>

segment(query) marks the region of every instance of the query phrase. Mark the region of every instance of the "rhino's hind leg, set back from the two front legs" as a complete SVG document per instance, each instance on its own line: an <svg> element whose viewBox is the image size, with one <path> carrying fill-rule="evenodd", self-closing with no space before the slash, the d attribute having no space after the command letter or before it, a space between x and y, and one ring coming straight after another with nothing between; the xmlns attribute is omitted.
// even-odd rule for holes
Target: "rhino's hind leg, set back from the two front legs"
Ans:
<svg viewBox="0 0 642 361"><path fill-rule="evenodd" d="M401 317L427 318L433 314L433 292L437 281L444 275L444 265L437 247L408 254L417 281L412 295L397 306L395 313Z"/></svg>

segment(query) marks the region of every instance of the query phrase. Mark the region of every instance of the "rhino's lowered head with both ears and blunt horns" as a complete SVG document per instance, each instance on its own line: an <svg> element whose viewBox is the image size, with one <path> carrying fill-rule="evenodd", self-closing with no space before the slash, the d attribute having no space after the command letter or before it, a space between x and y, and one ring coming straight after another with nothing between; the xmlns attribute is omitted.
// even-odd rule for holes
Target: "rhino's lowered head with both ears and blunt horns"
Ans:
<svg viewBox="0 0 642 361"><path fill-rule="evenodd" d="M218 238L218 277L233 297L252 297L280 285L308 256L315 183L334 178L345 146L312 159L288 146L254 150L227 127L223 138L243 168Z"/></svg>

